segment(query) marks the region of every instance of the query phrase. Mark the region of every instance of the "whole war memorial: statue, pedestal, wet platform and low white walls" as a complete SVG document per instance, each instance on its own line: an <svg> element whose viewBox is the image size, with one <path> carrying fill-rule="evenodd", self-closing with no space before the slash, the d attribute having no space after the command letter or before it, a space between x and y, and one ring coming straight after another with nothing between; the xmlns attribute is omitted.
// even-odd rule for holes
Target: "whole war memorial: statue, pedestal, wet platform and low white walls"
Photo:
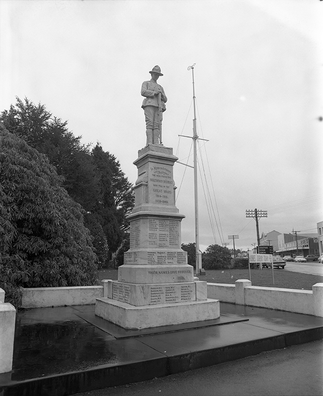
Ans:
<svg viewBox="0 0 323 396"><path fill-rule="evenodd" d="M150 74L141 89L147 140L133 162L130 248L118 280L24 289L20 312L0 289L1 396L68 396L323 338L322 283L310 291L194 276L181 249L177 157L162 144L160 67Z"/></svg>

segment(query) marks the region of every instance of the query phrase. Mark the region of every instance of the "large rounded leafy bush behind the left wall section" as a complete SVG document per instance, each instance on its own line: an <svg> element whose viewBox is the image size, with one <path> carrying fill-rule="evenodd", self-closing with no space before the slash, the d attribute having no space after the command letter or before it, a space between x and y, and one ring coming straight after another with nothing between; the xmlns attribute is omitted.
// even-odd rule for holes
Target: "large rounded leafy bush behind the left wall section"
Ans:
<svg viewBox="0 0 323 396"><path fill-rule="evenodd" d="M96 283L97 256L83 209L46 155L0 123L0 288L19 306L20 287Z"/></svg>

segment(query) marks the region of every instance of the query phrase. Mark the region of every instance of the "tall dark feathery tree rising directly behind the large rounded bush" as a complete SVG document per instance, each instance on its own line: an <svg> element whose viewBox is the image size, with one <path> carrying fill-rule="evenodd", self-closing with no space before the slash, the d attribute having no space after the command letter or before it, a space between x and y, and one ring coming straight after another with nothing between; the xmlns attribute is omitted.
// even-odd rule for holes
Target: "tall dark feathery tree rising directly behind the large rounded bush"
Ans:
<svg viewBox="0 0 323 396"><path fill-rule="evenodd" d="M1 113L7 130L22 138L37 151L46 154L58 175L64 177L63 187L87 211L93 210L98 195L98 178L89 146L81 144L62 122L25 98L16 98L15 106Z"/></svg>

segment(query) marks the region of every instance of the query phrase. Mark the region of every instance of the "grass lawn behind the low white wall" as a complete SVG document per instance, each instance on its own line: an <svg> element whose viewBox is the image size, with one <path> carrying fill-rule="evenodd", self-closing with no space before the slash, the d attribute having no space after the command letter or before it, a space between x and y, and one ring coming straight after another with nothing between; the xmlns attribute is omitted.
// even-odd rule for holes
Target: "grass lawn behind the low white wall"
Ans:
<svg viewBox="0 0 323 396"><path fill-rule="evenodd" d="M285 269L275 268L273 270L274 282L272 283L271 268L251 269L252 286L275 287L284 289L304 289L312 290L316 283L323 283L323 276L301 274L300 272L286 271ZM118 270L114 268L103 268L98 271L98 278L118 279ZM200 281L211 283L229 283L234 284L238 279L249 279L249 270L247 269L225 269L206 270L206 275L200 276Z"/></svg>

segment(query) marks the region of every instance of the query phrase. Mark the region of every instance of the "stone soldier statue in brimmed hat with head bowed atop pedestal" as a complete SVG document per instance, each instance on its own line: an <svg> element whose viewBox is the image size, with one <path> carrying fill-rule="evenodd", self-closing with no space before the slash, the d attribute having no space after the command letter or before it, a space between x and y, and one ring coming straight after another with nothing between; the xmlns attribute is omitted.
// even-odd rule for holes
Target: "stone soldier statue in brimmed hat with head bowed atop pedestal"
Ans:
<svg viewBox="0 0 323 396"><path fill-rule="evenodd" d="M141 95L145 97L142 108L145 111L147 143L162 144L162 113L166 110L166 95L161 85L157 84L159 76L163 76L159 66L149 72L150 81L144 81L141 86Z"/></svg>

